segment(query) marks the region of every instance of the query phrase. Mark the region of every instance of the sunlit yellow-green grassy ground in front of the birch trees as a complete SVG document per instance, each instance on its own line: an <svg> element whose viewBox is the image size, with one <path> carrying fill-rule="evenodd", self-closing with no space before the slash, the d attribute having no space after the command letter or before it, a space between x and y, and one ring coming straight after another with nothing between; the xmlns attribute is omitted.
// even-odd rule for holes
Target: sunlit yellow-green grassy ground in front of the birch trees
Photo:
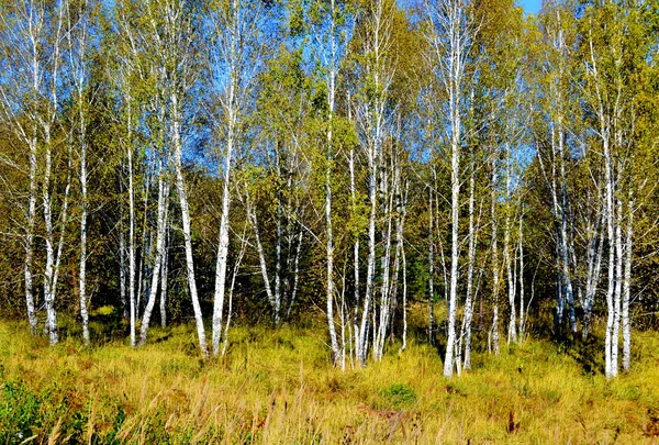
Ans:
<svg viewBox="0 0 659 445"><path fill-rule="evenodd" d="M0 444L610 444L659 442L659 334L636 333L633 369L600 371L601 342L526 340L442 377L410 341L381 363L332 367L322 329L238 326L202 363L189 325L149 344L56 347L0 322Z"/></svg>

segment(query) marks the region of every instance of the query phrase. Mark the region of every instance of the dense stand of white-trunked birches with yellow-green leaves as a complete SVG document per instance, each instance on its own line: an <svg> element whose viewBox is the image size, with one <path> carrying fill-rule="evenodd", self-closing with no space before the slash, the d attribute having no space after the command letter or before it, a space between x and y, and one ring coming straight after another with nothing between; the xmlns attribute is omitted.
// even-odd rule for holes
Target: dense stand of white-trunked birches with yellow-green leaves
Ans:
<svg viewBox="0 0 659 445"><path fill-rule="evenodd" d="M409 335L657 329L659 4L0 0L0 309L131 346L322 320L339 368ZM407 331L412 309L423 332Z"/></svg>

